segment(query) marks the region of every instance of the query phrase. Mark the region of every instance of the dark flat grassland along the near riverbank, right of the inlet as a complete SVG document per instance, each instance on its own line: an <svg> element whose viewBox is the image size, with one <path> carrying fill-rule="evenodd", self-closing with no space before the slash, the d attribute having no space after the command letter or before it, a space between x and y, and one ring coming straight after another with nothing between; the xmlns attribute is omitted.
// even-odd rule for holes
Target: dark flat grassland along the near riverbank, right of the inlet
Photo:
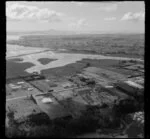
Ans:
<svg viewBox="0 0 150 139"><path fill-rule="evenodd" d="M132 75L134 74L131 70L121 69L117 66L119 65L120 60L112 60L112 59L83 59L81 61L77 61L76 63L68 64L63 67L51 68L42 71L42 74L48 76L56 76L56 77L65 77L71 76L76 73L80 73L87 66L103 68L106 70L111 70L123 75Z"/></svg>

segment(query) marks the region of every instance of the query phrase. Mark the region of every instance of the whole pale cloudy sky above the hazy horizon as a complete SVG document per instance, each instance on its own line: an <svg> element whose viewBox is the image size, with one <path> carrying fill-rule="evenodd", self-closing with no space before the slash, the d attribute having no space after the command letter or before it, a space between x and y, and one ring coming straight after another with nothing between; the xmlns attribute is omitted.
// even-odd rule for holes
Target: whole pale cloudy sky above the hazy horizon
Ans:
<svg viewBox="0 0 150 139"><path fill-rule="evenodd" d="M144 33L144 1L6 2L7 31Z"/></svg>

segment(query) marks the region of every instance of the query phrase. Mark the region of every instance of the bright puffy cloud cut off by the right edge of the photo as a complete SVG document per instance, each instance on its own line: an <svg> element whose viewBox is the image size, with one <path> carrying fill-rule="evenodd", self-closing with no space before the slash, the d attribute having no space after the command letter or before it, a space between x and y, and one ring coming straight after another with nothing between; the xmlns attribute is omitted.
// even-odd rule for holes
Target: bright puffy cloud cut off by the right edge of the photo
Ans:
<svg viewBox="0 0 150 139"><path fill-rule="evenodd" d="M124 16L121 18L121 21L140 21L145 19L145 12L140 11L136 13L128 12L124 14Z"/></svg>

